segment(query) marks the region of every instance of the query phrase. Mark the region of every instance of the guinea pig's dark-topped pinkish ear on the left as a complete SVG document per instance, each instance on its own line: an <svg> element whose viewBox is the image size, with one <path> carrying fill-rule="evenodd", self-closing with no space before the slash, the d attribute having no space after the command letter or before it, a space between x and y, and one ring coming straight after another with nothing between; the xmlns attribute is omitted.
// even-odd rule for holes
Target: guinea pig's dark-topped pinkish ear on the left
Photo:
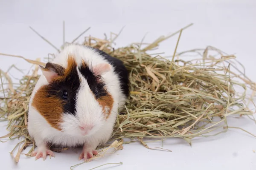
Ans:
<svg viewBox="0 0 256 170"><path fill-rule="evenodd" d="M42 65L39 65L39 66L47 82L51 82L52 79L54 79L55 77L61 76L64 73L64 68L61 65L58 65L52 62L47 62L45 67Z"/></svg>

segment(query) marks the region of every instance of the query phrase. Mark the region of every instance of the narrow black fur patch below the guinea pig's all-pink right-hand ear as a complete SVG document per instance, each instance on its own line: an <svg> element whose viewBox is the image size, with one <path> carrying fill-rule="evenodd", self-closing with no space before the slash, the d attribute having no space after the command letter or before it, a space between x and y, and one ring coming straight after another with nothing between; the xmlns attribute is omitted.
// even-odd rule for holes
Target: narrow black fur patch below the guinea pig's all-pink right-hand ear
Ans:
<svg viewBox="0 0 256 170"><path fill-rule="evenodd" d="M90 90L93 92L96 99L99 99L101 96L107 95L107 92L104 89L105 84L103 81L101 81L101 77L95 76L87 65L80 65L79 71L87 80Z"/></svg>

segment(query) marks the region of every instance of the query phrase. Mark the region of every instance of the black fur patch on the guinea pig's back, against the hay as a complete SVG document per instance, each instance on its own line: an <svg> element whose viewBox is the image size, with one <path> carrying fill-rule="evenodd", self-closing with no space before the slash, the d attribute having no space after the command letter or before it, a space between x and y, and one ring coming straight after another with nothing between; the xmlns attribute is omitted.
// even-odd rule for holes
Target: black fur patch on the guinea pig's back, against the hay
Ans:
<svg viewBox="0 0 256 170"><path fill-rule="evenodd" d="M117 59L115 57L112 57L105 53L104 51L101 51L99 49L93 48L95 51L97 51L104 59L106 59L114 68L114 72L118 75L119 82L121 84L121 90L122 93L128 97L129 96L129 73L127 69L125 68L125 65L120 59Z"/></svg>

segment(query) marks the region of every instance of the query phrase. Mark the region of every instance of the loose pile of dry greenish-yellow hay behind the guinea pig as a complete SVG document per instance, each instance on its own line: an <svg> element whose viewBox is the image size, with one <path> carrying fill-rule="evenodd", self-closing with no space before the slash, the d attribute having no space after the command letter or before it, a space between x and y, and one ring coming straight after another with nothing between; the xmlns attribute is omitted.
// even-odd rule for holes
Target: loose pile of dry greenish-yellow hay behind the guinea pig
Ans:
<svg viewBox="0 0 256 170"><path fill-rule="evenodd" d="M113 133L114 140L135 138L148 147L143 142L145 137L179 137L191 144L194 137L226 131L227 116L253 114L247 107L246 99L250 102L251 97L248 97L246 92L247 88L254 91L255 83L247 78L243 71L237 69L235 56L226 55L213 47L176 54L179 41L172 60L161 57L160 54L149 54L161 41L181 34L182 30L168 37L162 36L144 48L144 43L133 43L114 49L112 45L118 36L116 34L111 34L110 39L104 40L85 37L84 45L99 48L121 59L130 72L131 95L125 109L120 111L118 116ZM201 57L188 61L181 59L182 55L187 53L198 53ZM7 129L10 132L1 138L23 137L17 145L20 148L14 156L15 161L19 160L24 148L33 145L28 152L31 153L35 147L26 128L27 111L30 95L39 78L38 64L42 63L27 61L36 64L35 70L20 79L18 87L14 87L12 79L1 71L3 96L0 98L0 117L8 121ZM6 82L8 87L4 88L3 84ZM242 93L236 92L236 86L243 90ZM122 148L120 143L118 148Z"/></svg>

